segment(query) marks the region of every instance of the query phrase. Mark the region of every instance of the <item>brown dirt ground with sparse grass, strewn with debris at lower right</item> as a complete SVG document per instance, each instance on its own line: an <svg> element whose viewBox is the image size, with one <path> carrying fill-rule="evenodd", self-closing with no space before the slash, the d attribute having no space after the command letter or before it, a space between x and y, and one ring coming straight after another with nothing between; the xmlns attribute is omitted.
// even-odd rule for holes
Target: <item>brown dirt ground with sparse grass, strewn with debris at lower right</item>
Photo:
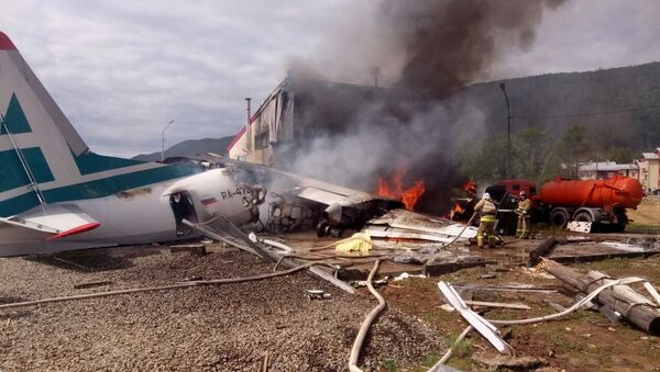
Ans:
<svg viewBox="0 0 660 372"><path fill-rule="evenodd" d="M602 262L576 264L582 271L600 270L610 275L641 275L650 279L657 286L660 283L660 257L648 259L615 259ZM475 293L474 300L505 303L524 303L532 308L488 309L481 308L487 319L517 319L548 315L557 312L548 302L565 307L572 303L568 291L556 279L526 268L516 268L510 272L496 272L494 279L481 279L493 273L488 268L466 269L448 275L425 279L408 279L381 290L386 301L409 314L443 329L448 342L463 331L468 324L455 312L441 308L437 282L440 280L453 284L524 283L535 286L553 286L558 293L531 294ZM517 356L538 357L542 367L565 371L660 371L660 338L645 334L634 326L612 324L597 312L582 311L559 320L537 325L499 327L506 340L516 349ZM441 353L440 353L441 354ZM477 358L475 358L477 357ZM461 345L460 352L451 359L449 365L465 371L487 371L488 368L475 359L494 359L496 352L479 334L471 332ZM425 367L414 369L424 371Z"/></svg>

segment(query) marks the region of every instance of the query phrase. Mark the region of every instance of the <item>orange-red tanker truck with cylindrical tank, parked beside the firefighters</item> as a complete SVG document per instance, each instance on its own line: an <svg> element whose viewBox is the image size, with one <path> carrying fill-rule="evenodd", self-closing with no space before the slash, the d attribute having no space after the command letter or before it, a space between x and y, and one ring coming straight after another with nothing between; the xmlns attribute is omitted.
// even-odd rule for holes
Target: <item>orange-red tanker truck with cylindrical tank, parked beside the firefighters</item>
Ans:
<svg viewBox="0 0 660 372"><path fill-rule="evenodd" d="M566 180L556 178L541 185L537 193L535 183L528 180L503 180L486 192L499 201L497 229L501 234L514 234L520 191L532 201L531 222L548 223L563 228L571 221L592 223L592 230L620 233L628 224L626 208L636 208L644 196L636 179L614 176L603 180Z"/></svg>

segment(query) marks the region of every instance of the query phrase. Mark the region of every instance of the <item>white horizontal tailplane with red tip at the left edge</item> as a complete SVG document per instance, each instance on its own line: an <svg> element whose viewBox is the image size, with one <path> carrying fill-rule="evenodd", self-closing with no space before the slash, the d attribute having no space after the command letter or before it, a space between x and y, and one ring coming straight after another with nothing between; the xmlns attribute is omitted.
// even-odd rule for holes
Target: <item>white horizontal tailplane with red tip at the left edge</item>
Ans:
<svg viewBox="0 0 660 372"><path fill-rule="evenodd" d="M8 218L0 226L44 233L48 240L89 232L101 224L75 206L46 205Z"/></svg>

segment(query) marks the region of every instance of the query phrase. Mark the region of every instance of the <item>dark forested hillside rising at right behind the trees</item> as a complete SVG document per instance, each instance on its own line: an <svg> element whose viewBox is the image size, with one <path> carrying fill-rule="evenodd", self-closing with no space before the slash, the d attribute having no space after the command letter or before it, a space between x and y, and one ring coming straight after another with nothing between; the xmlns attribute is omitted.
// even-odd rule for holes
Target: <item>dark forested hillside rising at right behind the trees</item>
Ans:
<svg viewBox="0 0 660 372"><path fill-rule="evenodd" d="M487 117L505 120L499 82L471 86L459 97L473 100ZM504 82L516 129L537 126L562 133L585 125L605 146L642 150L660 143L660 63Z"/></svg>

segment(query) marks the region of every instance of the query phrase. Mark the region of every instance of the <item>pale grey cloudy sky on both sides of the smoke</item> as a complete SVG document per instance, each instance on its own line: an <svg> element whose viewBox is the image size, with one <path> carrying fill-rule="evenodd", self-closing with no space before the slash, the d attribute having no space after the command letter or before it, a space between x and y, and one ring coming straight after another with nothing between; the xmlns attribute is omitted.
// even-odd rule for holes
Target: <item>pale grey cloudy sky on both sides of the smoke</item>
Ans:
<svg viewBox="0 0 660 372"><path fill-rule="evenodd" d="M365 36L356 34L363 30L356 25L378 21L373 16L377 0L0 4L0 31L88 146L128 157L158 151L172 120L166 147L235 134L245 122L244 98L257 106L292 60L322 66L330 79L367 82L366 66L341 74L341 60L351 58L337 50L351 49L337 44L360 45ZM530 47L507 52L481 79L660 60L658 20L654 0L569 0L544 12Z"/></svg>

